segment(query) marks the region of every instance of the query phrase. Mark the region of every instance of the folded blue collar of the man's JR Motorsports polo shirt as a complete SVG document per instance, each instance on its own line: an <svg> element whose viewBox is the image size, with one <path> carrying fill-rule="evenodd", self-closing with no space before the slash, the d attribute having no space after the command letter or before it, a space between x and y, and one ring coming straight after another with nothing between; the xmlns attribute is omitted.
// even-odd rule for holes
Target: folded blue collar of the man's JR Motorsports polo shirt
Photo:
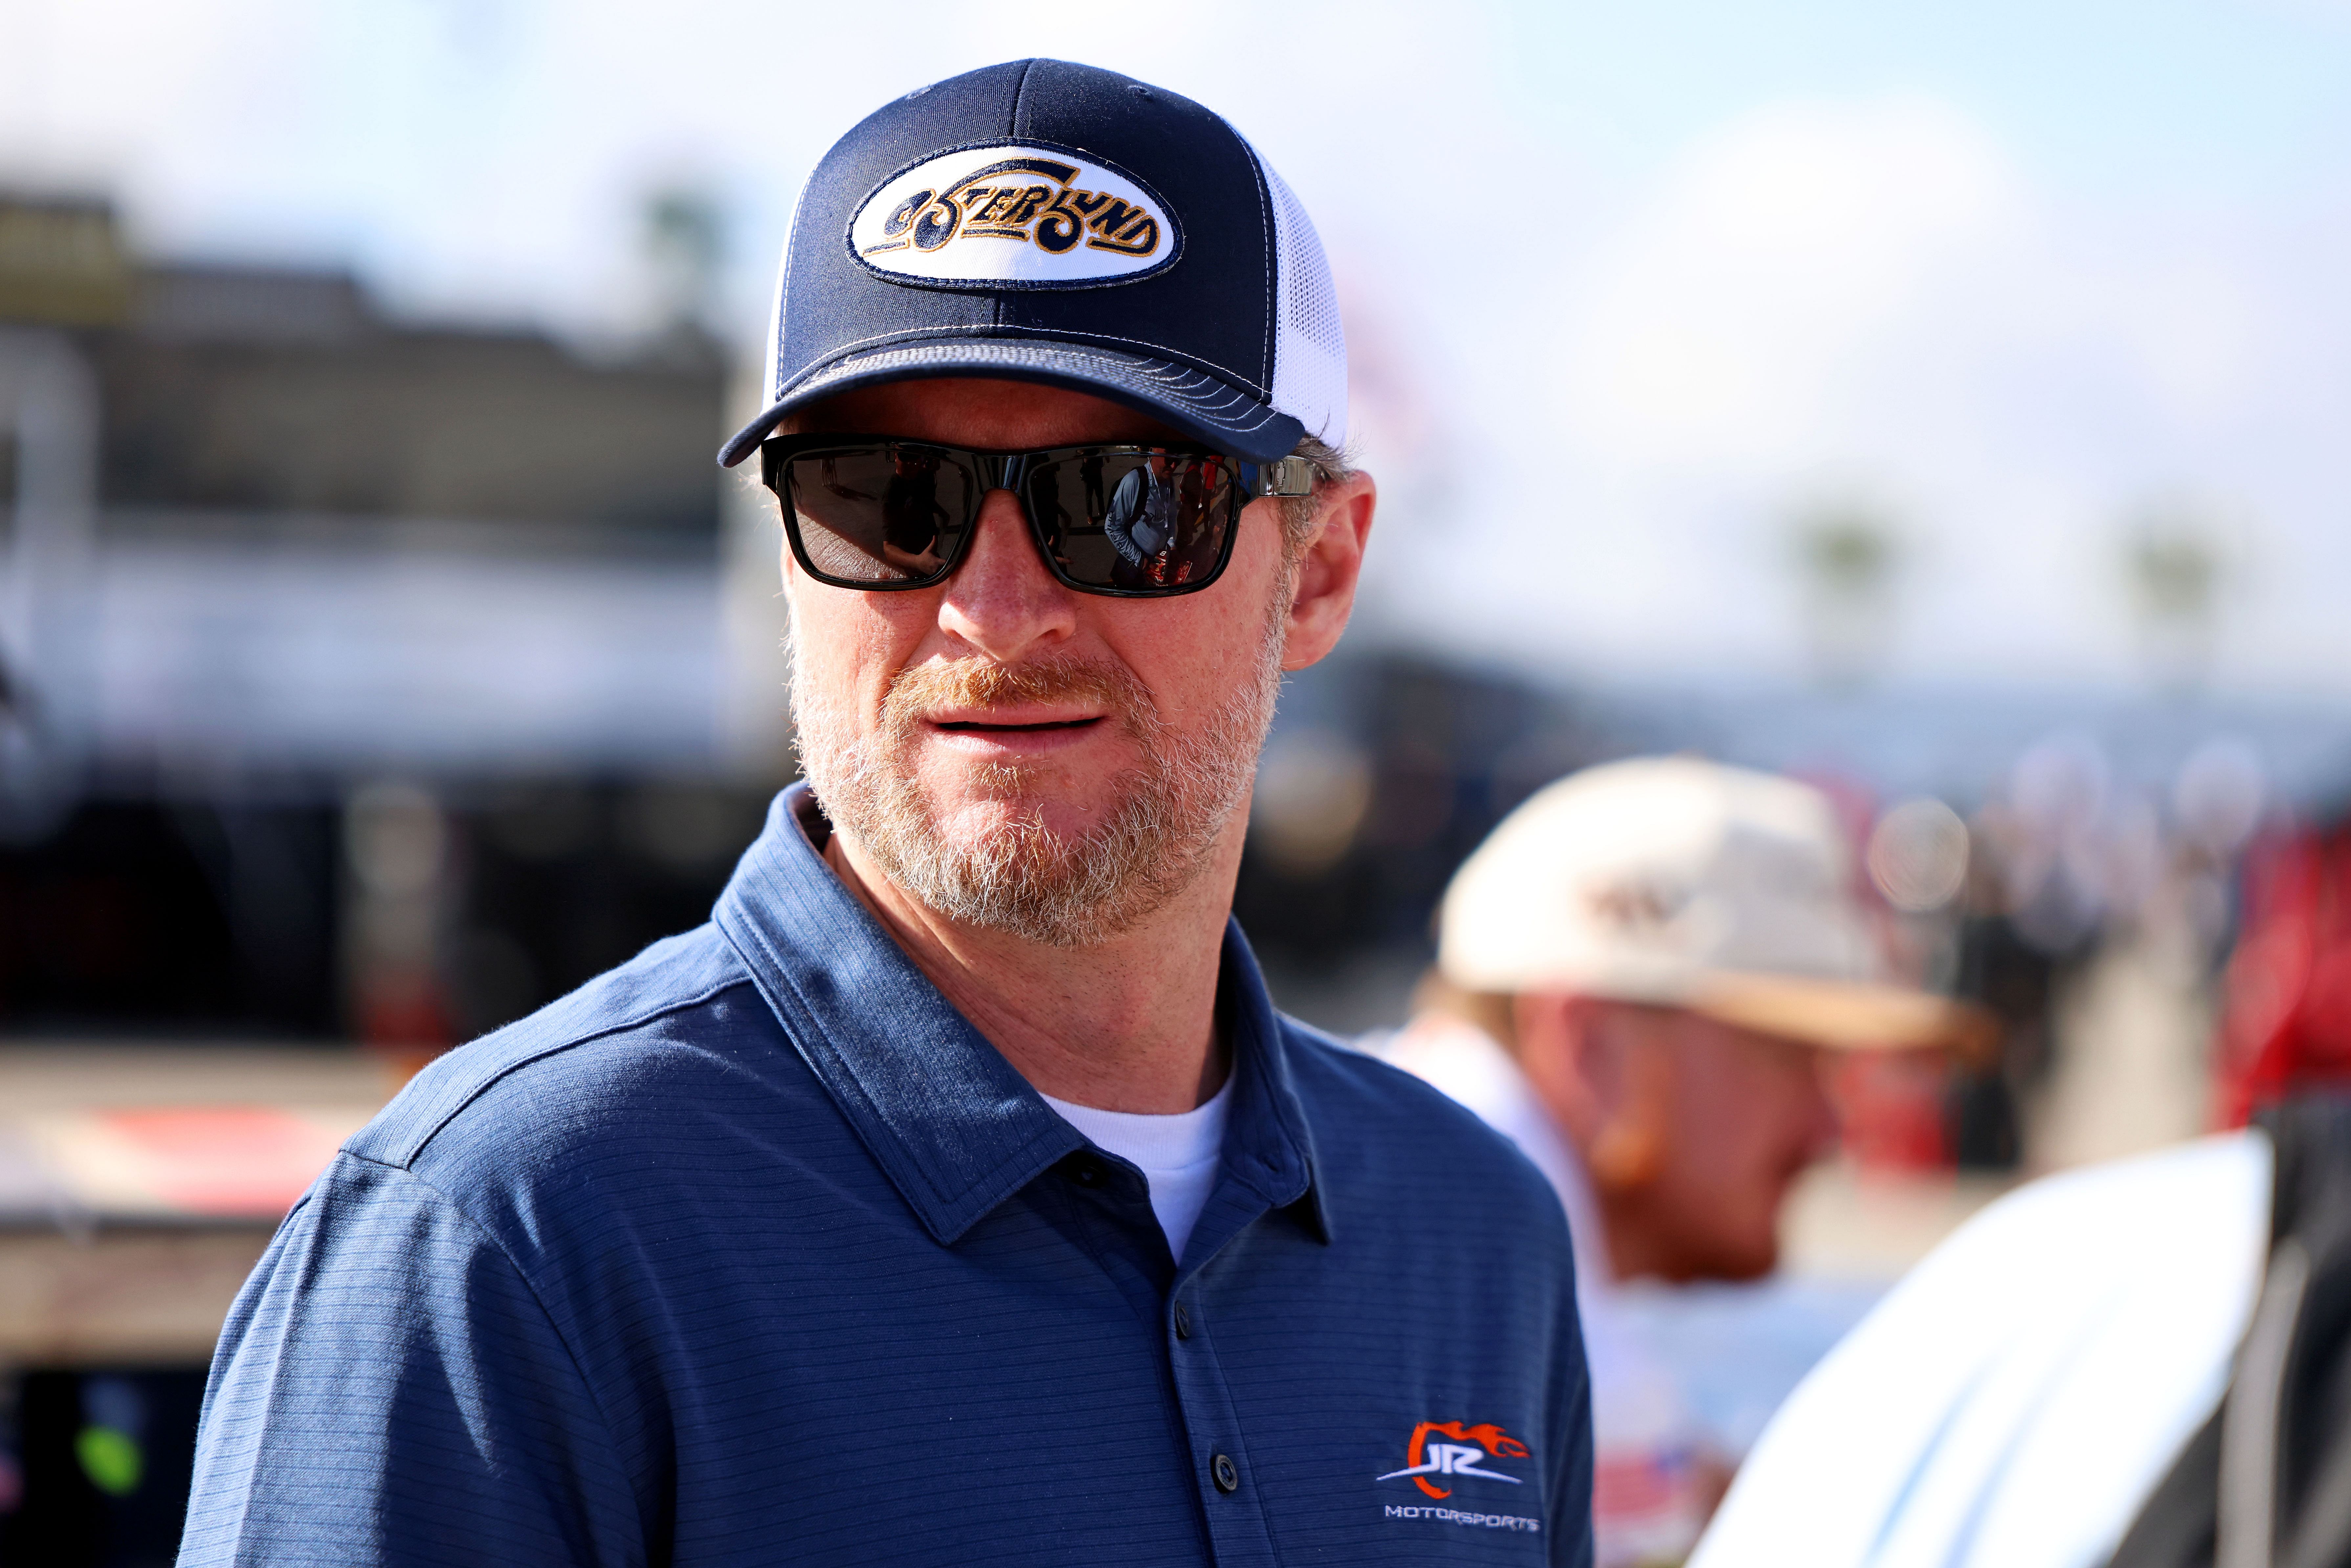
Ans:
<svg viewBox="0 0 2351 1568"><path fill-rule="evenodd" d="M806 783L783 790L712 919L785 1034L924 1227L957 1241L1086 1138L915 969L816 844ZM1328 1239L1314 1143L1265 978L1232 922L1220 987L1234 1044L1227 1173Z"/></svg>

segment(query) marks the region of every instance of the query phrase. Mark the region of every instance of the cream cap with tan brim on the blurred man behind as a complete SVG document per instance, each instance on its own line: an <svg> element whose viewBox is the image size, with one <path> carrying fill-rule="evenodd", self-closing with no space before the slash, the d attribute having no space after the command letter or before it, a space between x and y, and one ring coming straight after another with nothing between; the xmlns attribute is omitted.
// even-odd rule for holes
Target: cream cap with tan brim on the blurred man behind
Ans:
<svg viewBox="0 0 2351 1568"><path fill-rule="evenodd" d="M1465 990L1683 1006L1836 1051L1989 1053L1989 1013L1888 978L1853 875L1820 790L1610 762L1538 792L1455 872L1436 966Z"/></svg>

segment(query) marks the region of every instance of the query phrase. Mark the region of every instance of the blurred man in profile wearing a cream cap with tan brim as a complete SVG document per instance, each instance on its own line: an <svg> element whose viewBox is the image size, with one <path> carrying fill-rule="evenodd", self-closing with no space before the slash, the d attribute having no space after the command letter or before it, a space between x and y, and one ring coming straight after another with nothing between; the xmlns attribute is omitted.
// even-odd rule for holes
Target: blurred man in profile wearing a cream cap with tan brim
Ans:
<svg viewBox="0 0 2351 1568"><path fill-rule="evenodd" d="M1681 1561L1728 1455L1617 1281L1756 1279L1836 1135L1822 1048L1972 1020L1878 978L1829 802L1690 757L1617 762L1514 811L1446 889L1427 1006L1387 1058L1552 1178L1592 1349L1599 1561Z"/></svg>

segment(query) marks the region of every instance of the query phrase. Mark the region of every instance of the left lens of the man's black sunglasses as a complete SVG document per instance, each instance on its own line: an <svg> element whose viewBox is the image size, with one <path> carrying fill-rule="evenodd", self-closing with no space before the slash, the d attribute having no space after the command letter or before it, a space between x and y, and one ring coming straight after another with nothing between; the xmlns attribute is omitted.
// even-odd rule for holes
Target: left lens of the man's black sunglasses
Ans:
<svg viewBox="0 0 2351 1568"><path fill-rule="evenodd" d="M976 475L936 447L802 451L783 477L809 567L842 588L943 578L980 498Z"/></svg>

